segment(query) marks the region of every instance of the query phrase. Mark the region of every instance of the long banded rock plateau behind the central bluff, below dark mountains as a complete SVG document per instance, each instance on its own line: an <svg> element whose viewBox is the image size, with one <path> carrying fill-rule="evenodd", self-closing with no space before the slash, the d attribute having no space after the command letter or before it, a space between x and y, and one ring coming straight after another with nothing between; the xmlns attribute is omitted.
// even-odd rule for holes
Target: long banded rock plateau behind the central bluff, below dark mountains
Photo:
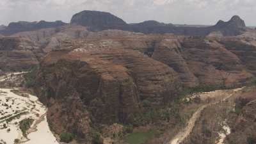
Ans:
<svg viewBox="0 0 256 144"><path fill-rule="evenodd" d="M197 86L198 84L232 86L232 84L243 84L248 77L255 75L255 66L253 65L256 61L253 56L255 53L253 42L255 41L247 40L247 42L246 38L143 35L120 30L94 33L87 31L82 26L41 29L17 33L15 36L15 39L26 43L22 47L24 51L33 49L36 59L33 59L35 57L32 56L29 63L35 64L47 52L58 49L73 49L72 47L78 46L86 49L121 47L139 51L145 56L173 68L179 74L184 86ZM74 40L77 38L84 40L81 42ZM21 44L22 42L12 43L10 41L9 43ZM20 51L20 47L5 47L6 54L8 51ZM13 58L10 54L5 56L8 60ZM28 67L26 63L19 63L16 60L9 63L14 63L12 65L19 67ZM4 65L8 65L8 63L3 62L2 67Z"/></svg>

